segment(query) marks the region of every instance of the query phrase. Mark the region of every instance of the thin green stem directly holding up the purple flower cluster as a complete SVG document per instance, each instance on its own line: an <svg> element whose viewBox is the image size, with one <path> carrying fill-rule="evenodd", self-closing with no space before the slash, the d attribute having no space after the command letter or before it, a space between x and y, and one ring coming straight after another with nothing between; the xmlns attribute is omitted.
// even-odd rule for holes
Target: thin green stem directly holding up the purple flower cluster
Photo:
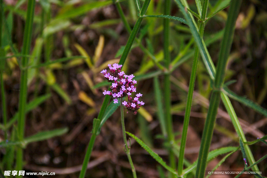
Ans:
<svg viewBox="0 0 267 178"><path fill-rule="evenodd" d="M125 132L125 124L124 124L124 113L123 113L123 106L122 106L122 100L120 99L120 115L121 115L121 126L122 126L122 136L123 136L123 141L124 141L124 148L125 148L125 153L127 154L129 163L131 165L132 168L132 172L133 172L133 177L136 177L136 172L135 172L135 168L133 166L133 161L130 155L130 147L131 145L128 146L127 144L127 139L126 139L126 132Z"/></svg>

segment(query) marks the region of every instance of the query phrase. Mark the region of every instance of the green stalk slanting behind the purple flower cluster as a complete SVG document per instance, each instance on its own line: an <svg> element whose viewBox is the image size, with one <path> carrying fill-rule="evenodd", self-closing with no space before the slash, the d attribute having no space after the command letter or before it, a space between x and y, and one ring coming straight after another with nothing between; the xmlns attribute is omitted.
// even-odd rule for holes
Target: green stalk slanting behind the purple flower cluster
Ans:
<svg viewBox="0 0 267 178"><path fill-rule="evenodd" d="M150 3L150 0L145 0L144 1L140 14L145 15L149 3ZM121 65L124 64L128 54L130 52L130 49L131 49L131 46L133 44L133 41L135 40L136 34L138 33L138 31L140 29L142 19L143 18L139 17L137 19L136 23L135 23L135 26L133 27L133 30L132 30L132 32L131 32L131 34L129 36L129 39L127 41L127 44L125 46L125 49L124 49L123 54L121 55L121 58L120 58L120 61L119 61L119 64L121 64ZM108 106L110 98L111 97L109 95L106 95L106 97L105 97L105 99L103 101L103 104L102 104L101 109L99 111L99 114L97 116L97 119L99 119L100 122L101 122L101 120L103 118L103 114L104 114L104 112L105 112L105 110L106 110L106 108ZM96 139L95 137L91 136L91 139L90 139L88 147L93 147L93 145L95 143L95 139ZM86 156L84 158L84 164L87 165L87 163L89 162L91 153L92 153L92 149L87 149ZM83 166L82 170L81 170L81 173L83 173L83 175L80 173L79 178L83 178L84 177L85 171L86 171L86 167Z"/></svg>

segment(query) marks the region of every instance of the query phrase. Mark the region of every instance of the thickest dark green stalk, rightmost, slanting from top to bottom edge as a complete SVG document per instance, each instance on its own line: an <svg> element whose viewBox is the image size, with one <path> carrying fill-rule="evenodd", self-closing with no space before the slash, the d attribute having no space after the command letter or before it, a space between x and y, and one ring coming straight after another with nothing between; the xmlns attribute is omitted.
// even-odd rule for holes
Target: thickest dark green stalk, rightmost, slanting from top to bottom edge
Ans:
<svg viewBox="0 0 267 178"><path fill-rule="evenodd" d="M214 81L214 90L211 94L210 106L207 113L207 118L203 130L201 146L198 156L198 164L196 177L203 178L205 176L205 169L207 166L207 156L210 149L211 138L213 135L213 129L216 121L218 107L220 103L220 90L223 86L225 78L225 70L227 59L230 53L231 44L233 41L233 34L235 29L235 22L241 6L240 0L233 0L228 13L228 18L225 26L225 32L222 39L221 50L219 54L219 60L217 65L217 72Z"/></svg>

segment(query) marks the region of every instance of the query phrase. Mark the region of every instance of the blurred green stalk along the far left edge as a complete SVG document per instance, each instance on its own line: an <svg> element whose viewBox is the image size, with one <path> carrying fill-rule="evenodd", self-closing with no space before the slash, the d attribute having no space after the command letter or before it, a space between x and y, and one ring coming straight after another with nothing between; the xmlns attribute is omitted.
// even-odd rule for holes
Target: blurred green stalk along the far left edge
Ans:
<svg viewBox="0 0 267 178"><path fill-rule="evenodd" d="M2 48L2 22L3 22L3 1L0 0L0 57L5 57L5 50ZM1 85L1 103L2 103L2 117L3 124L6 127L7 122L7 110L6 110L6 92L3 80L3 70L5 69L5 60L0 61L0 85ZM5 130L5 139L7 139L7 131Z"/></svg>

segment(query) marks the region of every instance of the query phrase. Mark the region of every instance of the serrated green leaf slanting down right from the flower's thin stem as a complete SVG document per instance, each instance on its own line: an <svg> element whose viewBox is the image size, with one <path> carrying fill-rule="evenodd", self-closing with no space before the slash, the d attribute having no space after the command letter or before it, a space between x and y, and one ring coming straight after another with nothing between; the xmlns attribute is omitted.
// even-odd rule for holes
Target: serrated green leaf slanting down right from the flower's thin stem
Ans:
<svg viewBox="0 0 267 178"><path fill-rule="evenodd" d="M141 147L143 147L156 161L158 161L159 164L161 164L164 168L166 168L168 171L177 174L177 172L172 169L171 167L169 167L163 160L162 158L155 153L154 151L152 151L142 140L140 140L139 138L137 138L135 135L126 132L129 136L131 136L133 139L135 139L135 141L137 141L137 143L139 143L139 145L141 145Z"/></svg>

